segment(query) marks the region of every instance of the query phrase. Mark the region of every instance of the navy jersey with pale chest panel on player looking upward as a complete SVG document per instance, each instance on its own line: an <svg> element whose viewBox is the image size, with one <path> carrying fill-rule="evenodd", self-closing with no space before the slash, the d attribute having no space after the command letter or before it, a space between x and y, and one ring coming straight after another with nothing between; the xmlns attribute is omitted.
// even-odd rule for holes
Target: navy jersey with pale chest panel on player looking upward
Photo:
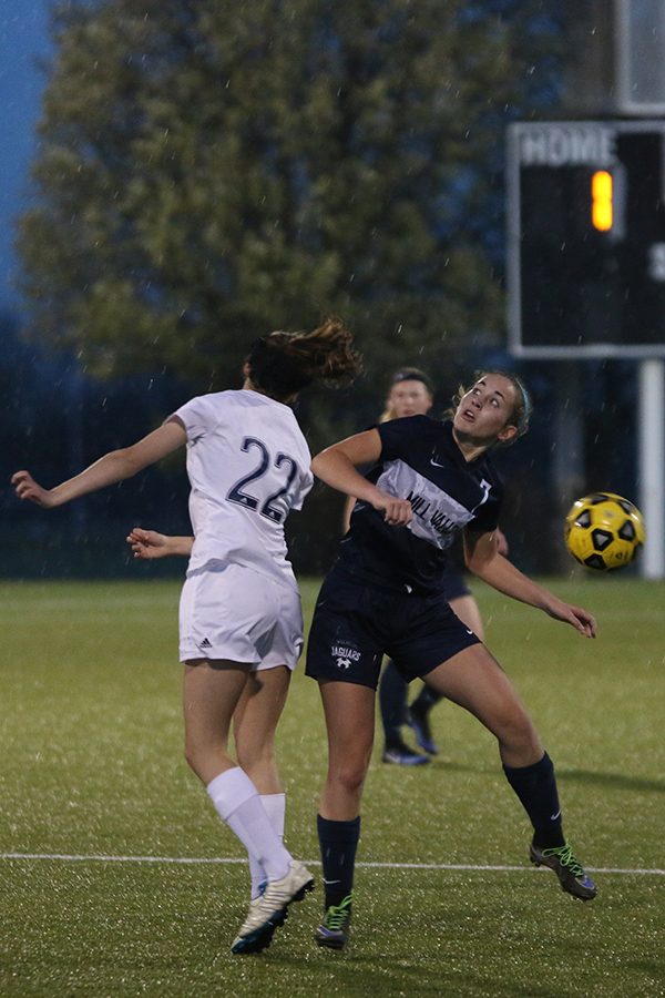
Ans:
<svg viewBox="0 0 665 998"><path fill-rule="evenodd" d="M366 477L390 496L408 499L413 519L408 527L389 527L382 512L357 502L339 566L380 585L440 589L456 533L464 527L495 529L500 478L487 455L467 462L451 422L408 416L377 430L381 456Z"/></svg>

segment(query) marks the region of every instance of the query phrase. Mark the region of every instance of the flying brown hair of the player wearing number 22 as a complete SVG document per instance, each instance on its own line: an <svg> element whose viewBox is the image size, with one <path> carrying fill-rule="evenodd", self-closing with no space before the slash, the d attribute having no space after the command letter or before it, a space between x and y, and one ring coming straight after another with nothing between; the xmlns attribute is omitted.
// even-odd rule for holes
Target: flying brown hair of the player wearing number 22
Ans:
<svg viewBox="0 0 665 998"><path fill-rule="evenodd" d="M258 389L277 400L315 380L328 385L348 383L362 368L352 344L352 333L335 316L310 333L270 333L252 344L248 375Z"/></svg>

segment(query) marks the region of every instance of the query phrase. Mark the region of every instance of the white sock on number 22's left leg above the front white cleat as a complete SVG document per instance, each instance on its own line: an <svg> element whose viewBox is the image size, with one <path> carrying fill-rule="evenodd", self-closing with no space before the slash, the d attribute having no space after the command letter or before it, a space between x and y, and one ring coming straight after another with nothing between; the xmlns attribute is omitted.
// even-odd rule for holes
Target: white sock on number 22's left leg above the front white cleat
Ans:
<svg viewBox="0 0 665 998"><path fill-rule="evenodd" d="M226 770L211 780L206 790L222 821L237 835L248 855L258 859L268 879L286 876L291 856L273 828L247 774L239 766Z"/></svg>

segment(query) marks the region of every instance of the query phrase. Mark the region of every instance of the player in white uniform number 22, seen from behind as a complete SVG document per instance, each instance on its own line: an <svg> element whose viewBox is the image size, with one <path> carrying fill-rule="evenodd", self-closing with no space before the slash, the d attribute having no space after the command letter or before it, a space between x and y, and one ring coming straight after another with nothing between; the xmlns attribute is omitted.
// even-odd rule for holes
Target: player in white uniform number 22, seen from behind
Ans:
<svg viewBox="0 0 665 998"><path fill-rule="evenodd" d="M219 817L246 847L254 873L266 880L233 953L268 946L289 904L314 885L280 837L284 796L272 755L303 646L284 521L313 483L307 442L288 404L316 379L355 375L359 358L351 344L338 319L311 333L264 336L252 346L241 390L192 399L147 437L53 489L28 471L12 477L19 498L48 509L187 447L195 541L180 610L185 755ZM228 753L234 714L237 763Z"/></svg>

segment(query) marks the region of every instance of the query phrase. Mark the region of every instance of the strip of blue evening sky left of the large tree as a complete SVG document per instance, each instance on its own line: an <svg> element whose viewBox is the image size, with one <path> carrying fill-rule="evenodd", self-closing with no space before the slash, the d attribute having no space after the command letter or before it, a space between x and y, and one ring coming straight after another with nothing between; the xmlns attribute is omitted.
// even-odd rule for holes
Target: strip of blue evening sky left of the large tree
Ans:
<svg viewBox="0 0 665 998"><path fill-rule="evenodd" d="M35 147L43 75L37 61L49 52L48 0L2 0L0 6L0 308L17 306L12 289L13 220L25 204Z"/></svg>

